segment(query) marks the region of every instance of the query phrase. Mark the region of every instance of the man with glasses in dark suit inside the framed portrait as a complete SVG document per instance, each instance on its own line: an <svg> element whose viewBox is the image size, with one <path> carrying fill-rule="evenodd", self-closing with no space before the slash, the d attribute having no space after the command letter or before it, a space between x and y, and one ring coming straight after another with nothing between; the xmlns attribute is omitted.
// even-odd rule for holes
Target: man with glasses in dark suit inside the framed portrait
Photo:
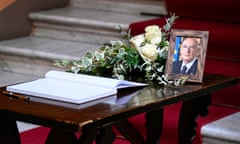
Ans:
<svg viewBox="0 0 240 144"><path fill-rule="evenodd" d="M172 67L174 74L196 75L199 53L199 42L196 38L186 37L180 46L180 60L175 61Z"/></svg>

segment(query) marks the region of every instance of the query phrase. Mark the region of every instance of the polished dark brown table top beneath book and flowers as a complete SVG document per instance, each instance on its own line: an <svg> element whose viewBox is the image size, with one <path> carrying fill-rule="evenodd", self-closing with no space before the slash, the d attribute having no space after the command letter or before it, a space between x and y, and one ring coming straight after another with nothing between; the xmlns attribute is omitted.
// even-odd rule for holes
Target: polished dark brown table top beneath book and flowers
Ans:
<svg viewBox="0 0 240 144"><path fill-rule="evenodd" d="M83 131L113 124L130 116L157 110L163 106L193 99L231 85L239 84L239 79L221 75L205 74L202 84L183 86L150 85L138 90L119 92L119 98L130 98L125 103L99 103L81 109L71 109L38 102L26 102L1 94L0 109L12 113L17 120L35 124ZM3 91L5 88L1 88Z"/></svg>

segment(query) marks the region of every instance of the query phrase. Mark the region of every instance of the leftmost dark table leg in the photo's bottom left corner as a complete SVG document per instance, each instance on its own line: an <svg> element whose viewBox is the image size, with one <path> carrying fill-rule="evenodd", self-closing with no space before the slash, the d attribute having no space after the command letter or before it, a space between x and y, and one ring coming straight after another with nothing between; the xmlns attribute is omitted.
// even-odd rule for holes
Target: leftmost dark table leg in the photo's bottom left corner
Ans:
<svg viewBox="0 0 240 144"><path fill-rule="evenodd" d="M7 112L0 112L0 144L20 144L20 136L14 118Z"/></svg>

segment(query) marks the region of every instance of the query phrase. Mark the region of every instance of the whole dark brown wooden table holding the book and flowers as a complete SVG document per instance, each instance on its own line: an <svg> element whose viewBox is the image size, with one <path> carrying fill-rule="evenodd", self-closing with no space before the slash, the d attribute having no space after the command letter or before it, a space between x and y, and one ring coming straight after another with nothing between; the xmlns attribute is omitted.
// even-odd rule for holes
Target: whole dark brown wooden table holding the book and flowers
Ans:
<svg viewBox="0 0 240 144"><path fill-rule="evenodd" d="M202 84L161 87L151 85L138 90L123 90L119 97L132 94L125 104L99 103L82 109L70 109L37 102L0 96L1 135L0 143L20 143L16 120L51 127L47 144L50 143L112 143L115 125L131 143L153 144L161 135L163 108L182 101L179 120L179 144L192 142L195 134L195 118L208 113L210 93L239 84L238 78L205 74ZM1 88L3 91L5 88ZM128 117L146 112L147 138L127 120ZM6 130L5 130L6 129ZM184 131L184 132L183 132ZM74 132L81 132L77 140ZM60 139L61 138L61 139Z"/></svg>

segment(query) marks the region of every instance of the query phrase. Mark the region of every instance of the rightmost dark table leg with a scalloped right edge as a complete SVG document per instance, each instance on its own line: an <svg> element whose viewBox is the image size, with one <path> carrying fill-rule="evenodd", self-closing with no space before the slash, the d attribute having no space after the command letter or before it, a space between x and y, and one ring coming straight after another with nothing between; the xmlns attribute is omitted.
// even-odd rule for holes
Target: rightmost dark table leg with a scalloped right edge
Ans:
<svg viewBox="0 0 240 144"><path fill-rule="evenodd" d="M208 114L207 107L210 104L210 95L200 96L183 102L178 125L179 144L192 144L196 134L196 118L199 115L206 116Z"/></svg>

